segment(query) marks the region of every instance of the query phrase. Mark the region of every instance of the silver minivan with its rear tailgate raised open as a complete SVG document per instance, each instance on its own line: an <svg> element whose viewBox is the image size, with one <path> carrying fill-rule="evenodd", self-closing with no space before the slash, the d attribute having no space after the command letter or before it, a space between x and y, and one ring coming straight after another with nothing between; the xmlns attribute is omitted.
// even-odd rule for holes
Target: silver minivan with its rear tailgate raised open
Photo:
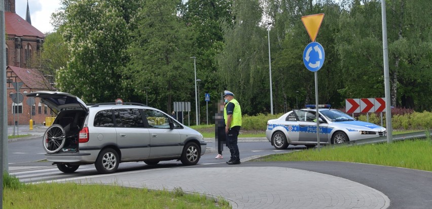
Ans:
<svg viewBox="0 0 432 209"><path fill-rule="evenodd" d="M180 160L195 165L205 153L202 134L168 114L139 103L86 105L63 92L32 92L58 115L45 132L48 161L64 173L95 164L99 173L114 173L120 162L144 161L154 165Z"/></svg>

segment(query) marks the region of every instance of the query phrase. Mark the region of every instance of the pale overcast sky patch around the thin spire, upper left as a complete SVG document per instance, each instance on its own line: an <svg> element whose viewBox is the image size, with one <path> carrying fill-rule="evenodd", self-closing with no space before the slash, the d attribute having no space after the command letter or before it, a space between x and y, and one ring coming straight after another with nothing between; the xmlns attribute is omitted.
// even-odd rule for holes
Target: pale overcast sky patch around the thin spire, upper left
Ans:
<svg viewBox="0 0 432 209"><path fill-rule="evenodd" d="M31 25L43 33L52 32L51 14L60 8L60 0L28 0ZM15 12L25 19L27 0L15 0Z"/></svg>

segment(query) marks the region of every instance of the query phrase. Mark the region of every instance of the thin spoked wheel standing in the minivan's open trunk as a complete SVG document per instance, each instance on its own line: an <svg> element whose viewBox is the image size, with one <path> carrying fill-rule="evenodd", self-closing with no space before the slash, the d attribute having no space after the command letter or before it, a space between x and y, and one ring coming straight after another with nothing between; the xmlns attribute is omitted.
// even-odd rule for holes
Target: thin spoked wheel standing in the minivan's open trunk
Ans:
<svg viewBox="0 0 432 209"><path fill-rule="evenodd" d="M66 135L59 124L54 124L44 134L44 149L47 153L56 153L64 146Z"/></svg>

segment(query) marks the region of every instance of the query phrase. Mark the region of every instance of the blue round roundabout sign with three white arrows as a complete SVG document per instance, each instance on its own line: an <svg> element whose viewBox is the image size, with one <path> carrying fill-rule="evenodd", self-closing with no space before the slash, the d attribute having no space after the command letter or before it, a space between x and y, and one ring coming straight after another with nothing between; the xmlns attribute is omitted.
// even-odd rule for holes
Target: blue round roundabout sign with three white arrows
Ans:
<svg viewBox="0 0 432 209"><path fill-rule="evenodd" d="M308 70L315 72L324 64L324 48L318 42L309 43L303 52L303 63Z"/></svg>

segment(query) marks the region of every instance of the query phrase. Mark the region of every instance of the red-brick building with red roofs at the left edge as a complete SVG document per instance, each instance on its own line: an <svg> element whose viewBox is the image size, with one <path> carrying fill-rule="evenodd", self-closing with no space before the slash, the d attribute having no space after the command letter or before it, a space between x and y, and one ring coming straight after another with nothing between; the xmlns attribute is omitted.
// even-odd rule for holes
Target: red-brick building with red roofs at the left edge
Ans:
<svg viewBox="0 0 432 209"><path fill-rule="evenodd" d="M6 89L9 95L8 125L13 125L14 122L20 125L29 124L30 117L34 124L42 124L45 117L51 116L50 109L41 104L39 99L35 99L34 105L28 105L28 98L22 95L54 89L38 69L27 69L32 63L38 63L38 60L41 59L41 47L45 35L31 25L28 2L25 20L15 13L15 0L5 0L4 2L7 38ZM21 89L19 89L21 95L16 95L14 83L22 83ZM12 100L13 98L15 101ZM16 100L17 98L18 100Z"/></svg>

